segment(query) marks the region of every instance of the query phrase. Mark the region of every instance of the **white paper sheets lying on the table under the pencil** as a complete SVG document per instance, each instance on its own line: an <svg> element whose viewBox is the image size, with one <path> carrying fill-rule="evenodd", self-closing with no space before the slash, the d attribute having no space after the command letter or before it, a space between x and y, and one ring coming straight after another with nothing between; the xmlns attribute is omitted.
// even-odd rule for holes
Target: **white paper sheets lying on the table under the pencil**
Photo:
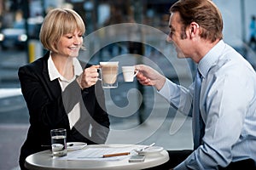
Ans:
<svg viewBox="0 0 256 170"><path fill-rule="evenodd" d="M103 155L123 153L123 152L132 152L135 150L135 147L112 147L112 148L87 148L84 150L74 150L67 152L67 156L60 157L61 160L94 160L94 161L117 161L122 160L128 157L126 156L111 156L111 157L102 157Z"/></svg>

